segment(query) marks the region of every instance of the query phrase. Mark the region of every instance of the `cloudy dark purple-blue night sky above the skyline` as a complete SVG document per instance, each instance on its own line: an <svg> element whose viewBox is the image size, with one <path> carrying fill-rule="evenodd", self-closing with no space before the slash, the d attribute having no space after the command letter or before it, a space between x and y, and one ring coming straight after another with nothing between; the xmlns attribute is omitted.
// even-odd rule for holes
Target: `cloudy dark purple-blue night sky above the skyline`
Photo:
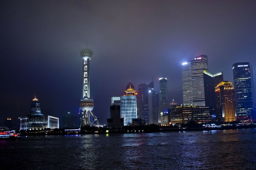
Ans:
<svg viewBox="0 0 256 170"><path fill-rule="evenodd" d="M111 96L131 83L168 78L169 100L182 102L181 63L208 56L209 71L233 82L232 65L256 72L255 0L1 0L0 123L29 114L37 95L42 113L78 114L80 51L90 60L93 112L104 124ZM256 73L254 73L254 79Z"/></svg>

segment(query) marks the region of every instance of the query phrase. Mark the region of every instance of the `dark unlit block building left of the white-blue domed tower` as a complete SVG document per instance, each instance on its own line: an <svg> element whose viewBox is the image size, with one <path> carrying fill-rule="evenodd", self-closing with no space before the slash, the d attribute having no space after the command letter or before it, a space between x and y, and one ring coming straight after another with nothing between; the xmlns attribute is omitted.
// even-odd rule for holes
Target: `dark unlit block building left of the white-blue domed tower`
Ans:
<svg viewBox="0 0 256 170"><path fill-rule="evenodd" d="M124 118L121 118L120 105L110 106L110 118L107 119L108 127L120 128L124 125Z"/></svg>

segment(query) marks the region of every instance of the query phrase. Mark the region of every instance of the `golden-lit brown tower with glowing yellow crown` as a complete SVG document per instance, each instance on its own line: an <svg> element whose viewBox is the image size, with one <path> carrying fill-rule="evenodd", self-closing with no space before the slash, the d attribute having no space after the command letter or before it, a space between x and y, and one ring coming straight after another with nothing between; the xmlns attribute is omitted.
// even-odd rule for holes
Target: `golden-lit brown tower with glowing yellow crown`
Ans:
<svg viewBox="0 0 256 170"><path fill-rule="evenodd" d="M215 87L216 118L220 122L236 121L235 95L232 82L223 81Z"/></svg>

